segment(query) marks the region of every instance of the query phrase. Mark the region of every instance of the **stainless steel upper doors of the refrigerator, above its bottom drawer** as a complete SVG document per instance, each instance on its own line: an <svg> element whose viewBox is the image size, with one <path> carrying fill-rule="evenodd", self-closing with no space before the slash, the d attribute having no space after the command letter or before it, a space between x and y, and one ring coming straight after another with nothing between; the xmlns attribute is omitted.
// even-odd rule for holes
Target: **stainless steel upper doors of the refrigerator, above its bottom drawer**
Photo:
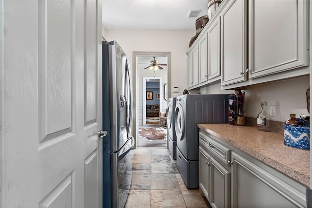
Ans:
<svg viewBox="0 0 312 208"><path fill-rule="evenodd" d="M130 66L116 41L109 44L110 151L118 151L131 136L132 95Z"/></svg>

